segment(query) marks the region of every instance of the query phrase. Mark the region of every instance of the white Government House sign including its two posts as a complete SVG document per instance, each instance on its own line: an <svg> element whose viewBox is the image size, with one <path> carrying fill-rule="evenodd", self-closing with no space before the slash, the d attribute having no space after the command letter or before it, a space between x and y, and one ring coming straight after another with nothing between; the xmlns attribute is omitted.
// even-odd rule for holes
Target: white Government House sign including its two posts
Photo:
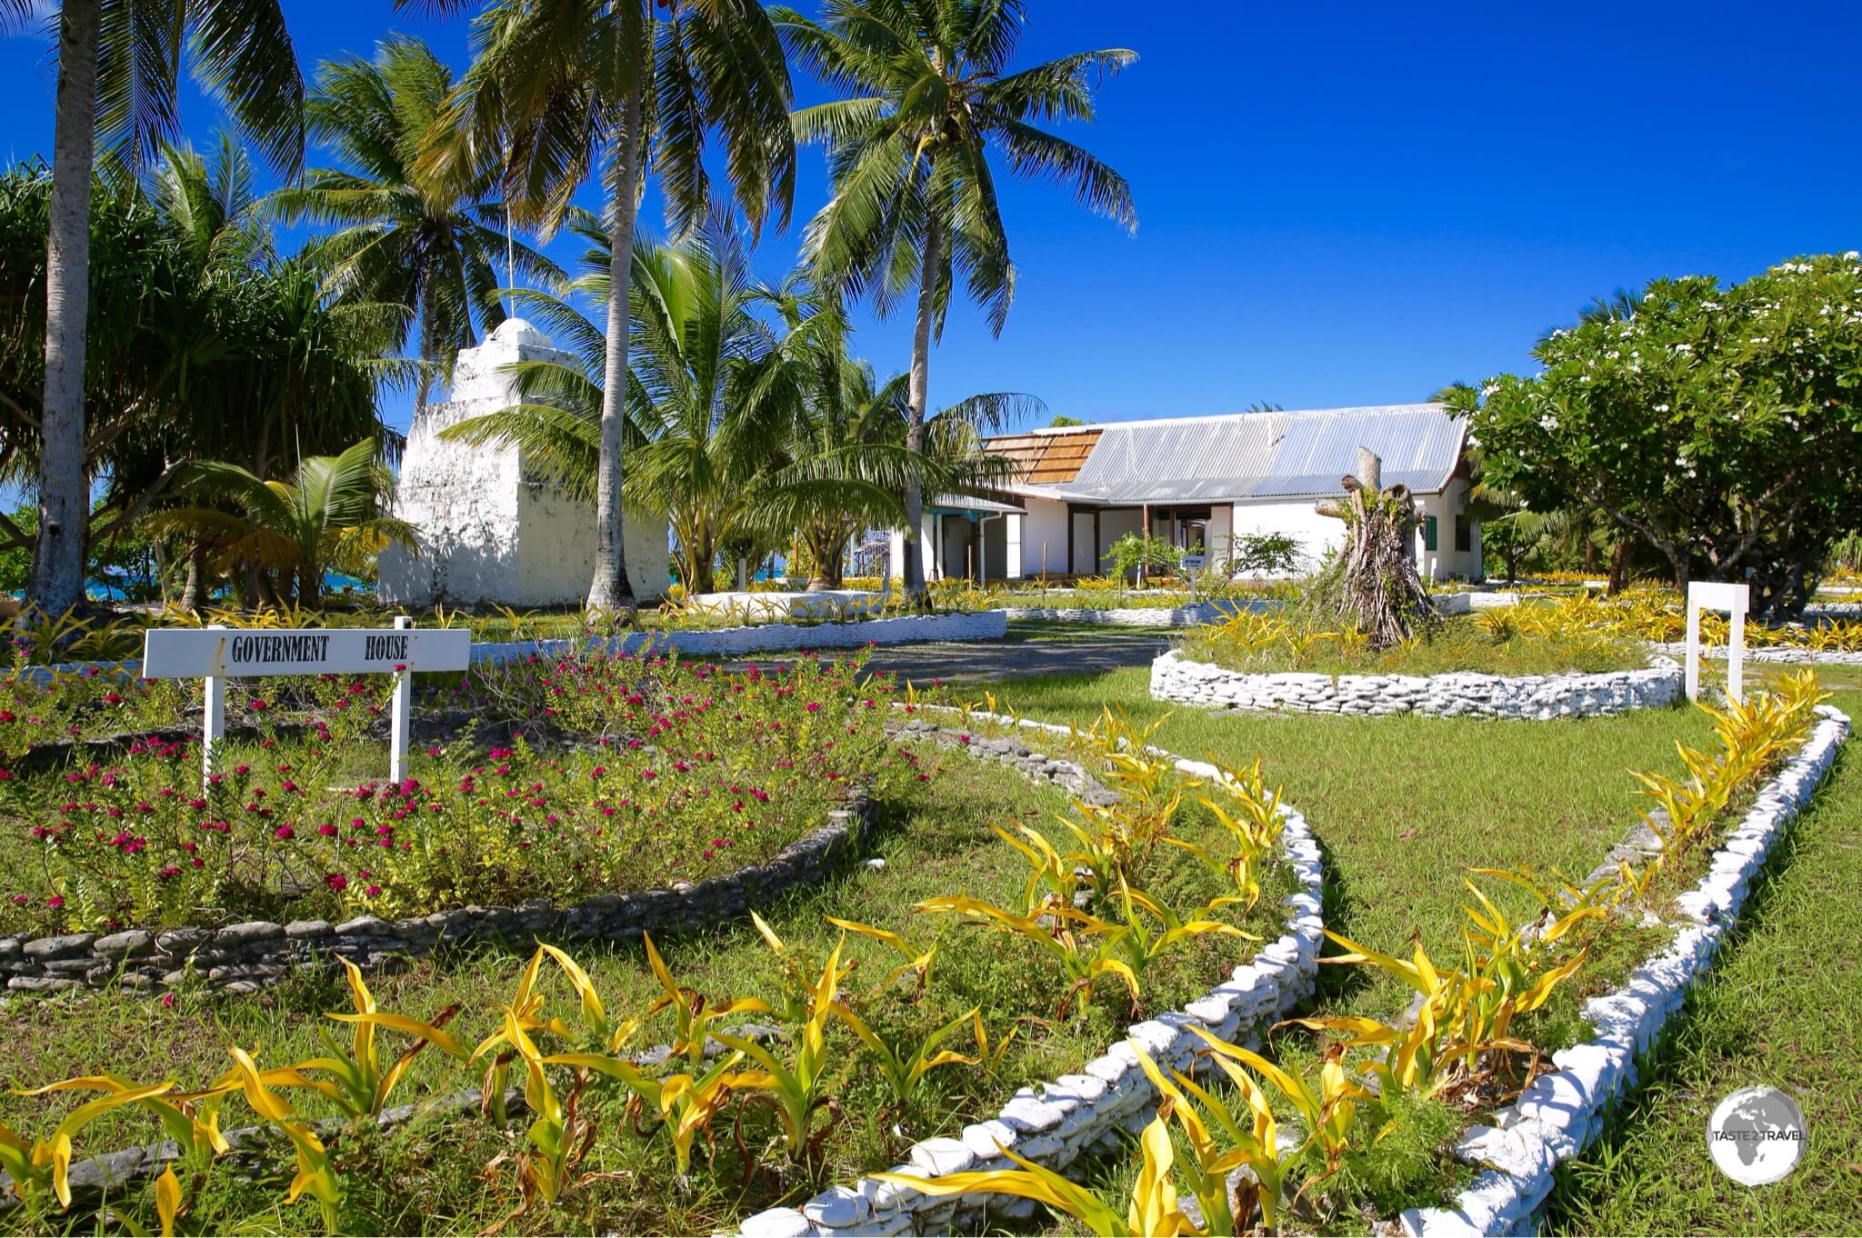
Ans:
<svg viewBox="0 0 1862 1238"><path fill-rule="evenodd" d="M393 627L151 627L142 644L145 680L201 680L201 782L207 784L225 737L227 680L261 676L391 674L395 706L389 728L389 780L408 776L408 715L413 709L415 670L466 670L471 666L471 631L466 627L413 627L397 618Z"/></svg>

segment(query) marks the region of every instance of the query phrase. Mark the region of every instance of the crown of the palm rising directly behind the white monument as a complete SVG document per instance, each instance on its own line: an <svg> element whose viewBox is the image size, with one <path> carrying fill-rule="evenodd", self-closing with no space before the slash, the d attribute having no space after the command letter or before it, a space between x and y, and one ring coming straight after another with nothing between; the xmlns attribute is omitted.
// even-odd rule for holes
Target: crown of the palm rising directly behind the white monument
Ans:
<svg viewBox="0 0 1862 1238"><path fill-rule="evenodd" d="M272 194L279 218L339 231L309 248L344 303L398 303L395 348L417 330L415 402L434 376L451 382L452 359L479 331L505 320L499 264L508 283L555 285L562 268L508 233L490 171L423 175L421 141L452 89L452 71L419 39L389 35L374 60L324 63L305 102L311 134L343 168L317 168Z"/></svg>

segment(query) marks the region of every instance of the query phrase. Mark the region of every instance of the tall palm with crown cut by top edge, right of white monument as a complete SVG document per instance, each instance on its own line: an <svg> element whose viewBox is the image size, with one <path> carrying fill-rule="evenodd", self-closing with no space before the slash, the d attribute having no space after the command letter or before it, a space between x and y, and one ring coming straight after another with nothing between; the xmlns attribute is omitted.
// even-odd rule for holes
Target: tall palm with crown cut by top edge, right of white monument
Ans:
<svg viewBox="0 0 1862 1238"><path fill-rule="evenodd" d="M466 0L400 0L456 11ZM706 214L708 132L724 149L732 197L762 225L786 223L795 190L789 73L758 0L492 0L477 56L425 166L503 169L505 201L544 231L605 164L613 266L607 285L592 611L633 611L622 553L627 307L633 227L648 171L674 233Z"/></svg>

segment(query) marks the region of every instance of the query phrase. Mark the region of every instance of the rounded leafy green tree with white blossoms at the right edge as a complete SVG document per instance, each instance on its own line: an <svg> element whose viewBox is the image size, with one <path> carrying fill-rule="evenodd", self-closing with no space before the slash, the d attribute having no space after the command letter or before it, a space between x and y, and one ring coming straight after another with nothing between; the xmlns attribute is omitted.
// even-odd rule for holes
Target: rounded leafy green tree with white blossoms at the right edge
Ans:
<svg viewBox="0 0 1862 1238"><path fill-rule="evenodd" d="M1747 579L1754 611L1788 614L1862 523L1855 253L1657 279L1534 356L1544 372L1458 400L1488 477L1529 508L1607 512L1678 585Z"/></svg>

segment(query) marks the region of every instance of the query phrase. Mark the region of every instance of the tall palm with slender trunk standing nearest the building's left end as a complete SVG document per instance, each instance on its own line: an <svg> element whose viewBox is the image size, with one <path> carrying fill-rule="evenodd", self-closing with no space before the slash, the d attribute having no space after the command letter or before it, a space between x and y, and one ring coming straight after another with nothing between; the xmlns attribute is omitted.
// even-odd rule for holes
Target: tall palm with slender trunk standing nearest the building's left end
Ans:
<svg viewBox="0 0 1862 1238"><path fill-rule="evenodd" d="M916 289L907 447L924 447L931 339L961 277L1002 333L1015 296L996 203L994 149L1013 175L1069 184L1091 210L1138 227L1125 177L1037 121L1093 119L1093 87L1136 60L1108 48L1009 73L1020 0L827 0L825 19L776 7L789 54L847 99L803 108L803 141L829 149L834 195L808 223L817 277L881 313ZM924 592L924 491L905 490L905 586Z"/></svg>

